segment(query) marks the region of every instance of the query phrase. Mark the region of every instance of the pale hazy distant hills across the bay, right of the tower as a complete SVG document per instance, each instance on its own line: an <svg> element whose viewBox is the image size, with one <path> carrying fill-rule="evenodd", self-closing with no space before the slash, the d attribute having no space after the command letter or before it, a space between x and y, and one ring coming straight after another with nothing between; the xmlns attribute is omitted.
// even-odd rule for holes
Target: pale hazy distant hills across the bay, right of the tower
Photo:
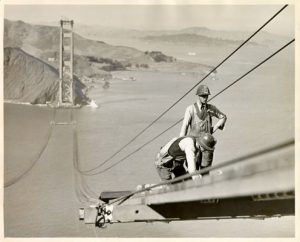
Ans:
<svg viewBox="0 0 300 242"><path fill-rule="evenodd" d="M214 30L196 26L173 30L112 29L76 25L77 32L91 39L126 45L147 51L155 49L177 59L214 66L253 33L251 31ZM287 36L261 30L243 48L244 55L259 55L264 49L276 50L290 41Z"/></svg>

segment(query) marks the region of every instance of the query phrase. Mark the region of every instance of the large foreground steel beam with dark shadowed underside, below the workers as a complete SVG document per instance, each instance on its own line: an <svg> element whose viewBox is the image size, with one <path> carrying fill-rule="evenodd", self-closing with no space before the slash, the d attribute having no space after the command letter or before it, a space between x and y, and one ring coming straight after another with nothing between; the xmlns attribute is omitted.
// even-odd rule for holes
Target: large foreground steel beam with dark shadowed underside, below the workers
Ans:
<svg viewBox="0 0 300 242"><path fill-rule="evenodd" d="M295 213L294 184L291 146L212 171L202 179L137 193L112 205L111 221L292 215Z"/></svg>

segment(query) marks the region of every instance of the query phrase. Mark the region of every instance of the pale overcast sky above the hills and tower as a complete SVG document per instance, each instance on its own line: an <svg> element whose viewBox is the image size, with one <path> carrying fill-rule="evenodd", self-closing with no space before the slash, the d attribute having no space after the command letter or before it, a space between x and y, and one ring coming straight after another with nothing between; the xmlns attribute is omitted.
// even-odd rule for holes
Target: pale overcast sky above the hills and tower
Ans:
<svg viewBox="0 0 300 242"><path fill-rule="evenodd" d="M256 30L283 5L6 5L4 17L30 23L58 22L161 30L202 26L218 30ZM289 5L266 31L294 36L294 7Z"/></svg>

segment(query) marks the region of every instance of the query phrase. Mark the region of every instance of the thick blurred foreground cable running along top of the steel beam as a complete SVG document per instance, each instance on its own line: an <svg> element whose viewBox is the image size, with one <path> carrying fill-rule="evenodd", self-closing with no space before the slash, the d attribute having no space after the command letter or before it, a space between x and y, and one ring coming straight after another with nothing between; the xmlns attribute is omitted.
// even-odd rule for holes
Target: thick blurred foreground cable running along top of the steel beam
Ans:
<svg viewBox="0 0 300 242"><path fill-rule="evenodd" d="M114 204L114 203L119 202L119 201L120 201L119 204L121 204L123 201L127 200L128 198L132 197L133 195L141 193L141 192L149 191L149 190L151 190L155 187L159 187L159 186L168 185L168 184L176 183L176 182L179 182L179 181L183 181L185 179L191 178L192 176L202 175L202 174L210 172L212 170L220 169L222 167L227 167L227 166L239 163L239 162L247 161L249 159L256 158L258 156L261 156L261 155L264 155L264 154L267 154L267 153L270 153L270 152L273 152L273 151L277 151L279 149L283 149L283 148L289 147L289 146L294 145L294 144L295 144L295 140L288 140L288 141L283 142L281 144L277 144L277 145L274 145L274 146L266 148L266 149L262 149L262 150L259 150L259 151L256 151L256 152L253 152L253 153L250 153L250 154L247 154L247 155L244 155L244 156L241 156L241 157L229 160L229 161L225 161L225 162L222 162L222 163L220 163L218 165L215 165L215 166L211 166L211 167L201 169L199 171L195 171L191 174L186 174L186 175L177 177L177 178L169 180L169 181L161 182L161 183L149 186L147 188L137 190L137 191L132 192L128 195L125 195L125 196L122 196L122 197L119 197L119 198L113 200L112 202L108 203L108 205Z"/></svg>

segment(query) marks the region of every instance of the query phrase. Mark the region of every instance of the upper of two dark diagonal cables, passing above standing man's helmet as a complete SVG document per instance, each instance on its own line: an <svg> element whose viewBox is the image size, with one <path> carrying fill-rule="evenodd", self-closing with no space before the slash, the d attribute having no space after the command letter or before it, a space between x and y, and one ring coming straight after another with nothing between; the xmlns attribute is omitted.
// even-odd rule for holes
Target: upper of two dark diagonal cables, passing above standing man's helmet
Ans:
<svg viewBox="0 0 300 242"><path fill-rule="evenodd" d="M170 109L172 109L177 103L179 103L184 97L186 97L193 89L195 89L200 83L202 83L211 73L217 70L225 61L227 61L234 53L236 53L242 46L244 46L247 42L250 41L261 29L263 29L268 23L270 23L279 13L281 13L288 4L284 5L278 12L276 12L266 23L264 23L259 29L257 29L250 37L248 37L240 46L238 46L230 55L228 55L224 60L222 60L216 67L214 67L206 76L204 76L199 82L197 82L192 88L190 88L182 97L180 97L176 102L174 102L169 108L167 108L163 113L161 113L155 120L153 120L149 125L147 125L143 130L141 130L136 136L134 136L131 140L129 140L125 145L123 145L120 149L118 149L115 153L113 153L110 157L108 157L105 161L100 163L98 166L80 171L83 173L88 173L94 171L95 169L103 166L105 163L110 161L113 157L119 154L122 150L124 150L129 144L135 141L139 136L141 136L147 129L149 129L154 123L156 123L161 117L163 117Z"/></svg>

